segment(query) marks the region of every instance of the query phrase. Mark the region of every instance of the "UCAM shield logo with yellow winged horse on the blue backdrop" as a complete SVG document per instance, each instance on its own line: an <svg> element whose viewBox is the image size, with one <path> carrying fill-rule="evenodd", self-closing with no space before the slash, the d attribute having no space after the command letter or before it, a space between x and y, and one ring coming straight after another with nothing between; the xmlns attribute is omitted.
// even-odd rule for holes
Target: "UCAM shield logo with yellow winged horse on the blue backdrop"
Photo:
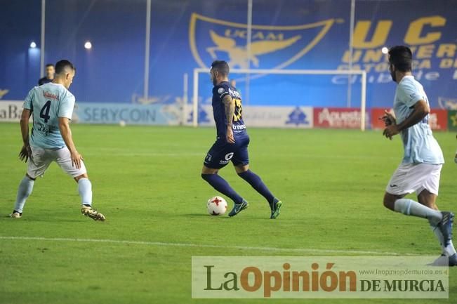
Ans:
<svg viewBox="0 0 457 304"><path fill-rule="evenodd" d="M248 53L246 24L192 13L190 49L200 67L208 67L211 61L223 59L232 68L282 69L312 50L337 21L340 22L329 19L307 25L252 25Z"/></svg>

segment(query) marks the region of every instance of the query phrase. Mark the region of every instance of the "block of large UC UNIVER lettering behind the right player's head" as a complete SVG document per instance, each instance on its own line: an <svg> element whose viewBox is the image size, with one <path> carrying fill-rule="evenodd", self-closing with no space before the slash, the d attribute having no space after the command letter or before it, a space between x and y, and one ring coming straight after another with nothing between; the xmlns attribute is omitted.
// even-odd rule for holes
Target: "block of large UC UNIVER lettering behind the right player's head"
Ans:
<svg viewBox="0 0 457 304"><path fill-rule="evenodd" d="M426 2L423 1L422 4ZM369 84L388 83L388 56L383 53L382 48L405 44L413 53L413 74L418 81L439 82L437 80L457 79L457 48L453 34L455 12L451 11L451 8L443 7L440 10L442 15L429 15L430 11L425 5L420 5L418 1L415 3L418 10L407 16L393 13L391 19L375 17L371 20L356 20L353 34L354 51L352 55L348 48L343 52L338 70L347 70L348 63L352 62L352 69L369 73ZM349 79L352 84L360 81L360 77L356 75L338 75L333 77L332 81L334 84L347 84Z"/></svg>

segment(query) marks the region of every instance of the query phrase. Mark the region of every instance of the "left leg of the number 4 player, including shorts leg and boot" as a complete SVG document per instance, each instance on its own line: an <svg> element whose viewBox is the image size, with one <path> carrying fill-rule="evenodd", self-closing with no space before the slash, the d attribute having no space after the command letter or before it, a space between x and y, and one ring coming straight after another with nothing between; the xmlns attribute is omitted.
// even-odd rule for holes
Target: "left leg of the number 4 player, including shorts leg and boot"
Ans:
<svg viewBox="0 0 457 304"><path fill-rule="evenodd" d="M52 161L46 150L40 147L30 147L30 149L32 150L32 158L27 162L27 173L20 181L14 210L11 213L12 218L20 218L22 216L25 201L32 194L35 180L38 176L43 176Z"/></svg>

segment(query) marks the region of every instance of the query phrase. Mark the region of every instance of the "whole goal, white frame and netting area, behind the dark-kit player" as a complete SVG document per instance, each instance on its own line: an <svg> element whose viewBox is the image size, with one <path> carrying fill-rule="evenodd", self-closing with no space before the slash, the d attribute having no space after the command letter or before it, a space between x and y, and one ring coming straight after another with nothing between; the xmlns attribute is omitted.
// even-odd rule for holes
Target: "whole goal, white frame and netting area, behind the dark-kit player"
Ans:
<svg viewBox="0 0 457 304"><path fill-rule="evenodd" d="M248 126L286 126L273 119L285 114L290 126L305 119L303 109L338 108L357 112L355 121L362 131L366 125L366 72L360 70L230 70L230 80L240 91ZM350 84L349 84L350 83ZM349 84L349 85L348 85ZM193 74L193 126L212 124L212 88L207 69ZM357 111L356 111L357 110ZM286 112L288 113L286 113ZM286 121L289 124L289 121Z"/></svg>

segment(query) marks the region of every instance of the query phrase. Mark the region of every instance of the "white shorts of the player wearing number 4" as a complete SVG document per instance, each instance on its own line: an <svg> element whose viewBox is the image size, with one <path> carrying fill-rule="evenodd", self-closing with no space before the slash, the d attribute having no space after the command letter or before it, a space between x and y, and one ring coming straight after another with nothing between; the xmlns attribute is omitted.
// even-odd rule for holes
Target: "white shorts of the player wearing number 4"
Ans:
<svg viewBox="0 0 457 304"><path fill-rule="evenodd" d="M43 149L41 147L30 146L32 149L33 162L28 162L27 175L31 178L43 176L44 171L48 168L51 162L55 161L62 170L72 178L86 174L86 166L81 161L81 168L72 165L72 158L67 147L58 150Z"/></svg>

